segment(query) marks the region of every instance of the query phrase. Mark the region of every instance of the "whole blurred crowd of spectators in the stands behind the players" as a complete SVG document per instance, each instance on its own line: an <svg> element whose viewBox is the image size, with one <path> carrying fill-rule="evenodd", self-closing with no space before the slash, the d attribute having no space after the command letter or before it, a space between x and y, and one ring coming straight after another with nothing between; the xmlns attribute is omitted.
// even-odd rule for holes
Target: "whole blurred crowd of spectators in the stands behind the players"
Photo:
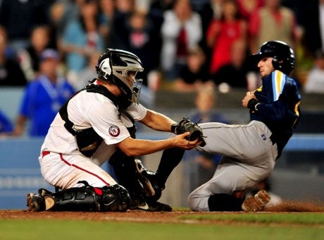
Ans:
<svg viewBox="0 0 324 240"><path fill-rule="evenodd" d="M142 59L147 96L254 90L261 80L248 56L267 40L294 48L301 90L324 92L323 0L0 0L0 87L26 86L18 120L45 111L39 102L53 115L96 78L110 47ZM33 98L35 88L48 99Z"/></svg>

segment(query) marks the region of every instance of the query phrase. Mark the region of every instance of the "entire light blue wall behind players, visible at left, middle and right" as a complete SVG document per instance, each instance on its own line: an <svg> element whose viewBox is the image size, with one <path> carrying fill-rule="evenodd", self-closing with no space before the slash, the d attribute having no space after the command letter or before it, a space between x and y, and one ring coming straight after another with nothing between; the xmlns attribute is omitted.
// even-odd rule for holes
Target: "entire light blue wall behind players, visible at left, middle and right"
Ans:
<svg viewBox="0 0 324 240"><path fill-rule="evenodd" d="M158 140L167 135L149 133L137 137ZM0 139L0 209L26 209L27 193L36 193L39 188L54 191L40 173L38 156L42 143L43 138ZM286 147L289 151L323 149L323 134L295 134Z"/></svg>

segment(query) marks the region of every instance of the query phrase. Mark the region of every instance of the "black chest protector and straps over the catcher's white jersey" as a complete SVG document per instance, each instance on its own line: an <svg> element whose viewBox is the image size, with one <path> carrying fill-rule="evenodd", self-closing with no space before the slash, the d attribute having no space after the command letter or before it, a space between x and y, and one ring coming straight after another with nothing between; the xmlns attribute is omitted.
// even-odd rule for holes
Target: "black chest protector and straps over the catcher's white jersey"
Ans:
<svg viewBox="0 0 324 240"><path fill-rule="evenodd" d="M108 89L102 85L89 84L77 93L81 91L97 92L101 95L104 95L105 97L108 97L108 99L110 99L113 102L113 104L115 104L118 108L119 114L124 114L132 122L133 125L130 128L127 128L127 130L130 132L130 136L132 138L135 138L135 120L125 110L128 107L127 105L122 104L118 100L118 98L115 95L113 95L113 93L109 92ZM77 93L75 93L75 95L77 95ZM75 95L73 95L73 97ZM70 119L68 119L68 102L70 101L70 99L63 104L63 106L59 110L59 113L61 115L61 118L66 122L64 124L66 130L68 130L73 136L75 136L77 140L77 147L79 148L80 152L86 157L91 157L96 151L96 149L99 147L103 139L101 138L101 136L99 136L98 133L96 133L96 131L94 131L94 128L86 128L82 130L73 129L74 124L72 121L70 121Z"/></svg>

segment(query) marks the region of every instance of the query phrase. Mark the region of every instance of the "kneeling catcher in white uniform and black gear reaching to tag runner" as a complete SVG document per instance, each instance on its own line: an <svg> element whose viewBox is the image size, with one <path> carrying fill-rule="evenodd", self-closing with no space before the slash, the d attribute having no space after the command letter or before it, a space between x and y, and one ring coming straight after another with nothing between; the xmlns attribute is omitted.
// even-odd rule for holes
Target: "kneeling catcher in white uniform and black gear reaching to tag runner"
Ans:
<svg viewBox="0 0 324 240"><path fill-rule="evenodd" d="M166 140L135 138L135 121L156 131L179 133L175 121L138 103L141 81L135 76L141 71L142 62L130 52L106 49L99 57L98 78L63 104L40 151L42 176L56 192L41 188L28 193L28 210L172 210L157 201L163 179L172 171L172 157L161 160L161 169L167 171L159 172L161 186L156 187L147 178L154 175L135 156L165 149L164 156L169 156L177 148L197 147L202 139L190 132ZM107 160L118 183L100 167Z"/></svg>

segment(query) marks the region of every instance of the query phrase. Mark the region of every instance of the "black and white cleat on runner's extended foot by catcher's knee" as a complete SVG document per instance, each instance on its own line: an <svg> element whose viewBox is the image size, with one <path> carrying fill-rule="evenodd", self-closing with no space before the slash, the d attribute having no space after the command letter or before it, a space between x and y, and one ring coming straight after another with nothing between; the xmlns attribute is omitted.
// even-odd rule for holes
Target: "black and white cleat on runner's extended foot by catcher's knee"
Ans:
<svg viewBox="0 0 324 240"><path fill-rule="evenodd" d="M141 160L135 159L135 166L139 175L139 181L143 185L147 197L153 201L158 200L161 197L163 188L158 186L155 173L146 169Z"/></svg>

